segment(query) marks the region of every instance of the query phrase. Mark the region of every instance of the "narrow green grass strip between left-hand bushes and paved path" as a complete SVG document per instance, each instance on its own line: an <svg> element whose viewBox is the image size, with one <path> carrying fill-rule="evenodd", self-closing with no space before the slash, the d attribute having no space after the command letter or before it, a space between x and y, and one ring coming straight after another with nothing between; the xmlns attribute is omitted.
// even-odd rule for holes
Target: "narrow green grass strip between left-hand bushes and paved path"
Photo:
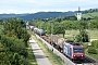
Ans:
<svg viewBox="0 0 98 65"><path fill-rule="evenodd" d="M27 51L28 51L27 60L29 62L29 65L37 65L37 62L35 60L35 55L33 53L33 49L32 49L30 44L28 44Z"/></svg>

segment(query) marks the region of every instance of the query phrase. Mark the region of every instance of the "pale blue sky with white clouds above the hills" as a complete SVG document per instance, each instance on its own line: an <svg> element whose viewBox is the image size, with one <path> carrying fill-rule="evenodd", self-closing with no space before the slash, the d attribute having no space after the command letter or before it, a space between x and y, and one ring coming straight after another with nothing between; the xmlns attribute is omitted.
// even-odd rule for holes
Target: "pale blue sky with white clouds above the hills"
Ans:
<svg viewBox="0 0 98 65"><path fill-rule="evenodd" d="M66 12L98 9L98 0L0 0L2 13Z"/></svg>

